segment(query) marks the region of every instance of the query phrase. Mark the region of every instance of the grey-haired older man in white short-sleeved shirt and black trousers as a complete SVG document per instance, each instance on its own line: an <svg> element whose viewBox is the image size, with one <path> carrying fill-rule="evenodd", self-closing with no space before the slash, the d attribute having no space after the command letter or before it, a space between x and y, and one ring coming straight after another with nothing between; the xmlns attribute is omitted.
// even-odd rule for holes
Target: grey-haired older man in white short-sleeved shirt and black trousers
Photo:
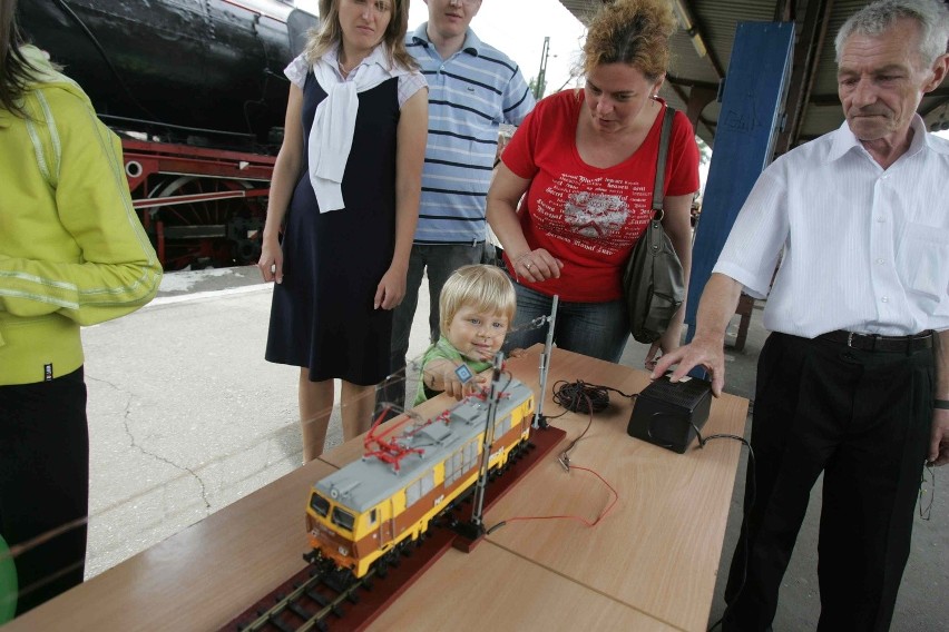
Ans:
<svg viewBox="0 0 949 632"><path fill-rule="evenodd" d="M724 630L769 630L823 472L818 630L887 630L924 462L949 462L949 141L916 113L946 77L949 11L882 0L837 39L840 129L774 161L705 287L692 344L668 354L725 379L740 293L769 296L752 446L757 484ZM783 250L781 267L772 274ZM769 295L770 290L770 295Z"/></svg>

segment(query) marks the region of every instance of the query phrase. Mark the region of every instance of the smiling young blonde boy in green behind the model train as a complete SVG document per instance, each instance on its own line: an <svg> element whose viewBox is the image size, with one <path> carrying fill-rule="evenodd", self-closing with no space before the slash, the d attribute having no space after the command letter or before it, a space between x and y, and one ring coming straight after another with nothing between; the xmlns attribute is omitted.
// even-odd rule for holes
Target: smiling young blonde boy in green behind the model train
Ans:
<svg viewBox="0 0 949 632"><path fill-rule="evenodd" d="M483 387L487 378L478 374L491 367L516 308L513 285L501 268L458 268L439 297L441 337L422 356L414 405L439 393L461 399ZM473 377L462 381L458 374L461 366L467 366Z"/></svg>

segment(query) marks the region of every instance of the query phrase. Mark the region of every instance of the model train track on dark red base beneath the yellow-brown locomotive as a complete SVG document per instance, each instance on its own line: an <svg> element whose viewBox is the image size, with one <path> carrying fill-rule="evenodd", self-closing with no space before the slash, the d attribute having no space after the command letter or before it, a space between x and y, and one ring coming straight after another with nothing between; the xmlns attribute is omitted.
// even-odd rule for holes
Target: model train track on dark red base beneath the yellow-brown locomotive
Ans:
<svg viewBox="0 0 949 632"><path fill-rule="evenodd" d="M529 450L492 476L485 493L485 511L500 500L564 438L549 427L531 432ZM473 543L454 526L471 517L470 495L433 522L428 533L395 546L360 580L319 556L304 555L310 565L290 577L222 630L231 632L305 632L364 630L389 604L450 547L470 551Z"/></svg>

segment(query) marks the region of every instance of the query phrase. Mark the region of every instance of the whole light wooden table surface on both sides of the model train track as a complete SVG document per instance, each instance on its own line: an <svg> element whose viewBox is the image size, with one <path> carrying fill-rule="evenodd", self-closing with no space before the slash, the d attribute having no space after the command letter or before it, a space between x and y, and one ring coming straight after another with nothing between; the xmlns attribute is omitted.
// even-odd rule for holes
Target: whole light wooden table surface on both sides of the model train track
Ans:
<svg viewBox="0 0 949 632"><path fill-rule="evenodd" d="M540 347L508 369L538 388ZM544 404L559 381L637 393L638 371L556 349ZM437 412L439 397L420 407ZM431 408L431 409L429 409ZM372 630L704 630L741 444L711 442L678 455L626 435L632 404L610 394L573 465L599 473L619 501L597 526L573 520L511 522L470 554L449 551ZM724 395L704 434L741 435L747 402ZM578 436L588 415L552 421ZM566 445L566 444L565 444ZM217 630L301 570L306 547L303 506L309 485L361 455L349 442L200 523L14 620L21 630ZM559 453L561 448L557 448ZM610 494L594 475L566 473L555 456L485 516L488 526L516 516L595 519Z"/></svg>

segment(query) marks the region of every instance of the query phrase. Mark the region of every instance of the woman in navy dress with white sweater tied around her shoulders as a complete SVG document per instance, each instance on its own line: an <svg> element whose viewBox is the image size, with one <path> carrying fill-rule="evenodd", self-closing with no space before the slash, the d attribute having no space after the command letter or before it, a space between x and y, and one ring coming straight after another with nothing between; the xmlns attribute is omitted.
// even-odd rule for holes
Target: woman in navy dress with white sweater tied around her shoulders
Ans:
<svg viewBox="0 0 949 632"><path fill-rule="evenodd" d="M388 374L428 128L425 81L404 48L408 11L408 0L321 0L323 26L285 71L258 267L276 282L266 359L301 367L305 461L323 452L334 378L349 440L369 429Z"/></svg>

